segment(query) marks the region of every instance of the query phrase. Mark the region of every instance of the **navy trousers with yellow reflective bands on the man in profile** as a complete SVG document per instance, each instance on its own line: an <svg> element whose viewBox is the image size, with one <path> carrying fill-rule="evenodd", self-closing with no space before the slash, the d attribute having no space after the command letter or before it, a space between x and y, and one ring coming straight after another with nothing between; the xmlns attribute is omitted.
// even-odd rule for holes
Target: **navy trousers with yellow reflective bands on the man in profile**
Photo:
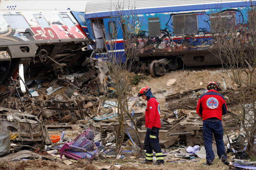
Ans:
<svg viewBox="0 0 256 170"><path fill-rule="evenodd" d="M158 132L160 128L152 127L151 132L146 133L144 146L146 149L146 159L149 162L153 162L153 150L156 152L156 161L164 163L163 153L159 144Z"/></svg>

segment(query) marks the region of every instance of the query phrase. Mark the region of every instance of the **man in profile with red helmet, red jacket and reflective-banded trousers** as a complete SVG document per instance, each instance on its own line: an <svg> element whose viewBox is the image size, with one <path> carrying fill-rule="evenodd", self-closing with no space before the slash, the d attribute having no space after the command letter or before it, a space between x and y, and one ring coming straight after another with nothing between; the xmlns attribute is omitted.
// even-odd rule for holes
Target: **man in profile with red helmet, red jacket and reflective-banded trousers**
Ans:
<svg viewBox="0 0 256 170"><path fill-rule="evenodd" d="M160 123L160 105L158 100L153 96L150 88L145 86L139 90L138 96L142 96L144 100L148 101L145 111L145 127L147 127L147 133L144 141L146 149L146 159L141 163L153 162L153 151L156 152L156 162L153 165L164 165L163 153L160 148L158 133L161 128Z"/></svg>

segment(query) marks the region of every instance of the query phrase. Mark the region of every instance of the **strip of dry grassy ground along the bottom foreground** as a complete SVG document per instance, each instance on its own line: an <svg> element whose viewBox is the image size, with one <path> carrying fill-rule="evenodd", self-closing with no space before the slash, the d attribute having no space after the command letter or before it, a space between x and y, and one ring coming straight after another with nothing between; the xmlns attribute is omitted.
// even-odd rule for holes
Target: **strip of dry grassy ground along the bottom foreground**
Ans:
<svg viewBox="0 0 256 170"><path fill-rule="evenodd" d="M45 161L41 159L29 161L1 161L0 170L98 170L106 169L118 170L115 164L122 165L119 170L228 170L228 166L223 165L219 160L215 160L212 166L203 165L204 160L198 163L165 163L165 165L142 165L137 160L115 160L106 159L106 161L78 160L78 162L66 165L62 162ZM109 168L109 166L111 166Z"/></svg>

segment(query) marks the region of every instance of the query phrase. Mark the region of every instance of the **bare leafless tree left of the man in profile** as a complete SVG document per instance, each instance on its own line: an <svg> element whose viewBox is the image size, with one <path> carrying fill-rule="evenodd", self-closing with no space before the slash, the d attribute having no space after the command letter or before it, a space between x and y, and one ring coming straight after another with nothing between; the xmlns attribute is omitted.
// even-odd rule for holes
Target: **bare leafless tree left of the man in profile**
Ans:
<svg viewBox="0 0 256 170"><path fill-rule="evenodd" d="M116 118L119 122L115 143L115 151L118 152L124 140L126 121L131 120L134 122L130 114L131 110L128 107L128 101L132 94L130 94L130 89L127 87L128 81L132 77L129 72L134 64L134 58L142 48L137 45L142 21L139 20L135 6L129 5L128 9L124 9L124 3L122 2L111 5L113 6L109 10L108 25L104 25L105 23L99 18L95 18L93 22L96 24L94 31L98 36L95 37L96 40L98 38L95 55L106 61L109 76L111 77L111 81L106 83L115 91L108 95L115 96L113 100L117 103L114 107L117 108ZM119 37L123 37L123 40L120 40ZM102 102L104 103L105 101ZM128 120L126 120L127 116ZM139 139L138 129L135 124L134 128L142 148L141 139ZM121 141L118 139L119 136L121 136Z"/></svg>

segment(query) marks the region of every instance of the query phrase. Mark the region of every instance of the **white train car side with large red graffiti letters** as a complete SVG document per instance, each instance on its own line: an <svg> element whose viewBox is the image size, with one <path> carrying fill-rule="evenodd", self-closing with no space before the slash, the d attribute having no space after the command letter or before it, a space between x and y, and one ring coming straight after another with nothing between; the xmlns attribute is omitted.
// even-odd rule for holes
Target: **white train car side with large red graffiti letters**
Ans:
<svg viewBox="0 0 256 170"><path fill-rule="evenodd" d="M87 36L82 27L70 13L0 13L0 41L58 40L85 37Z"/></svg>

